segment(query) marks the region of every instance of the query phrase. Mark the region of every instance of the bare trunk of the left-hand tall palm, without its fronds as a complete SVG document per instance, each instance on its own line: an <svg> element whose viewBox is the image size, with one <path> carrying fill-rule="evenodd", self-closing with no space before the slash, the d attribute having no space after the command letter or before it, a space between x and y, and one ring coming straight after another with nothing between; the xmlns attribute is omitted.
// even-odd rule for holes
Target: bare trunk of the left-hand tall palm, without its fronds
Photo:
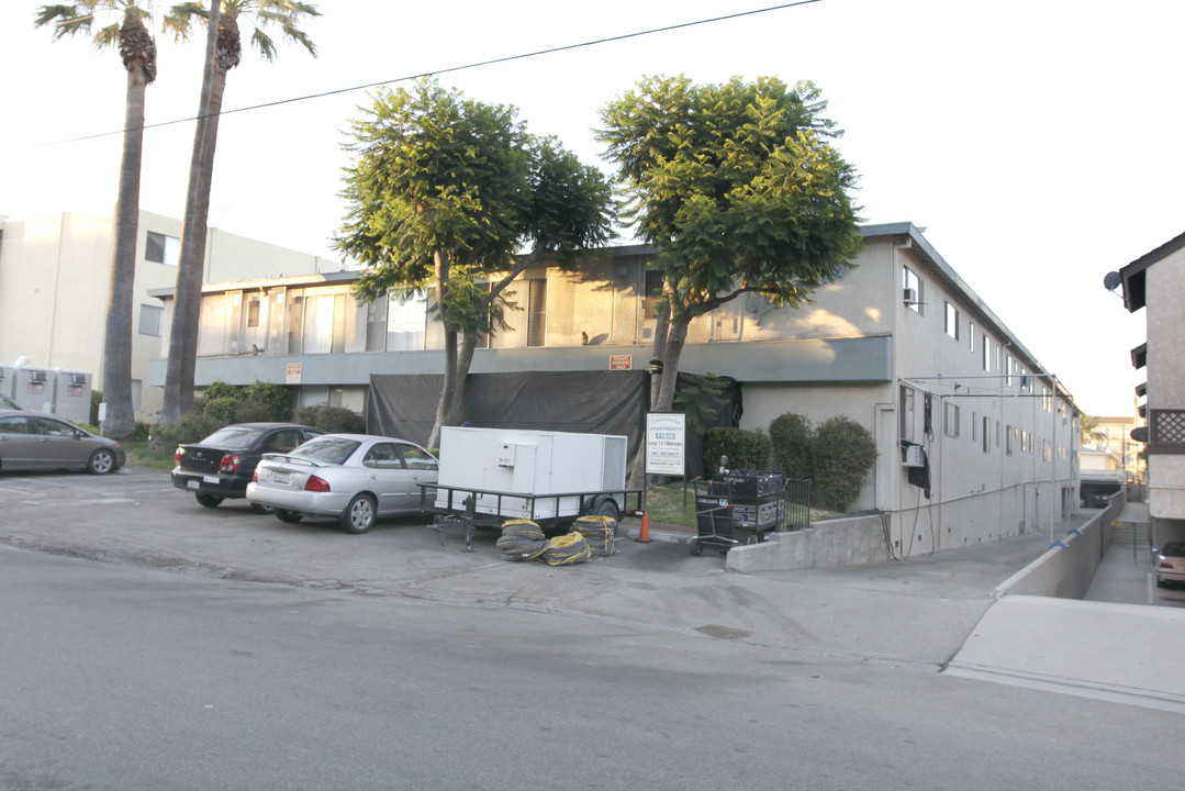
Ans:
<svg viewBox="0 0 1185 791"><path fill-rule="evenodd" d="M140 224L140 162L143 154L145 93L150 82L143 66L128 69L123 161L115 210L115 250L103 339L104 430L116 439L135 428L132 403L132 314L135 307L136 236Z"/></svg>

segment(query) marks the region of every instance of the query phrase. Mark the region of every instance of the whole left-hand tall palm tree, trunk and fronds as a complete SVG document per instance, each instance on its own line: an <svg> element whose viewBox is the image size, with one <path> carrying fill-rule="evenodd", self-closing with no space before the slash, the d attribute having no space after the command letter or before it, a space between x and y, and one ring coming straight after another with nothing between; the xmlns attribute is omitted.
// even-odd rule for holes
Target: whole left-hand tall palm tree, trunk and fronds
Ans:
<svg viewBox="0 0 1185 791"><path fill-rule="evenodd" d="M96 18L115 15L94 34L97 49L118 47L128 72L123 123L123 161L115 209L115 251L111 256L111 288L103 338L104 428L122 439L135 428L132 404L132 313L135 306L136 231L140 221L140 161L143 152L145 94L156 78L156 42L145 26L148 11L137 0L78 0L70 5L41 6L37 27L53 26L53 40L77 33L90 34Z"/></svg>

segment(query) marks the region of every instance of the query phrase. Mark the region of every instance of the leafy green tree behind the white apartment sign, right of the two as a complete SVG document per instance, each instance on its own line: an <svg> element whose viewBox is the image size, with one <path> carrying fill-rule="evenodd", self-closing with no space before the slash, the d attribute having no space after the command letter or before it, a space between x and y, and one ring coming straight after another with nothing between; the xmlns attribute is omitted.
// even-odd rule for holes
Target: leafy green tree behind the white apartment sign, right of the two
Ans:
<svg viewBox="0 0 1185 791"><path fill-rule="evenodd" d="M597 138L623 181L626 217L661 249L652 403L667 410L692 319L747 293L796 306L860 245L856 173L828 142L811 83L693 85L647 77L601 111Z"/></svg>

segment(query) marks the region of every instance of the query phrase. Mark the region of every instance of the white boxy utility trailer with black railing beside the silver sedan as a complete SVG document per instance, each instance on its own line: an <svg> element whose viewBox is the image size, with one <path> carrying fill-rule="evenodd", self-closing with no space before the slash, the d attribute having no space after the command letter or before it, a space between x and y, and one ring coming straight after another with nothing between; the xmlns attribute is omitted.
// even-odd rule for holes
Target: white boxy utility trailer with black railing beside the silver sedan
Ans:
<svg viewBox="0 0 1185 791"><path fill-rule="evenodd" d="M444 427L440 474L422 484L425 510L437 525L472 527L531 519L551 529L581 516L641 511L641 490L626 489L627 438L514 428ZM634 508L628 498L634 498Z"/></svg>

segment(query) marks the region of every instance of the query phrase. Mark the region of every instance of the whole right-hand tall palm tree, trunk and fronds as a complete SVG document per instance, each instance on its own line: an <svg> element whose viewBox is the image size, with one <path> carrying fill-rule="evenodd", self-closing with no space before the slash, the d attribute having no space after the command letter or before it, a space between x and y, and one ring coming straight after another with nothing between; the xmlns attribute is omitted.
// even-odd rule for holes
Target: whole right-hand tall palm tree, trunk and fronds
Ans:
<svg viewBox="0 0 1185 791"><path fill-rule="evenodd" d="M173 6L165 27L179 39L188 38L198 20L207 25L206 78L201 87L198 128L193 136L190 189L185 202L181 232L181 260L177 272L173 325L168 336L168 363L165 372L165 406L161 420L174 421L193 406L193 374L198 355L198 317L201 308L201 272L206 257L206 230L210 217L210 187L213 178L218 115L228 72L243 57L238 20L254 26L251 44L271 62L276 44L264 31L278 26L283 38L295 42L316 57L316 46L296 27L306 18L320 17L316 6L294 0L211 0L210 9L199 2ZM217 31L217 36L216 36Z"/></svg>

